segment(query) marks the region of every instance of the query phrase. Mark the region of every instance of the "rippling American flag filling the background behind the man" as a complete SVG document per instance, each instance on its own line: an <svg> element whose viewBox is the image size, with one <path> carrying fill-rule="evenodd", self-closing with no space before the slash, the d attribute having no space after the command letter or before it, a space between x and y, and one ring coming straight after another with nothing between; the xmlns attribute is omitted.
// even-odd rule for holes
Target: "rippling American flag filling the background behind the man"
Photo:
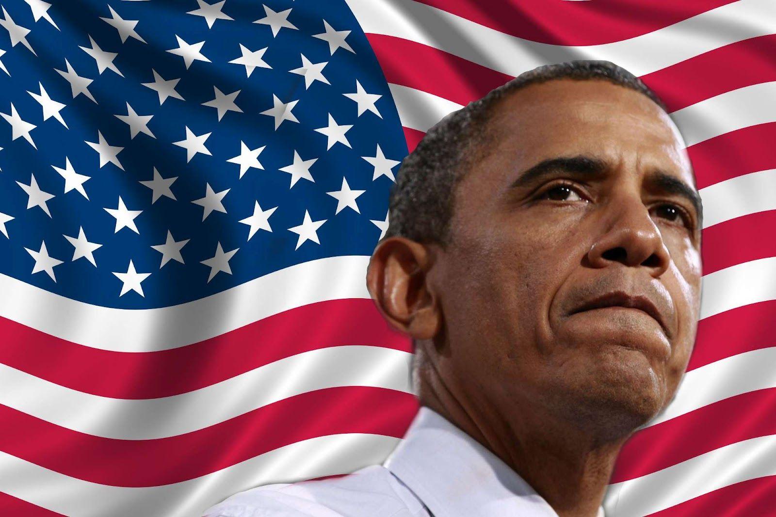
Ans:
<svg viewBox="0 0 776 517"><path fill-rule="evenodd" d="M400 160L573 59L667 102L705 205L695 352L608 515L776 515L773 0L0 6L0 515L380 463L417 411L365 288Z"/></svg>

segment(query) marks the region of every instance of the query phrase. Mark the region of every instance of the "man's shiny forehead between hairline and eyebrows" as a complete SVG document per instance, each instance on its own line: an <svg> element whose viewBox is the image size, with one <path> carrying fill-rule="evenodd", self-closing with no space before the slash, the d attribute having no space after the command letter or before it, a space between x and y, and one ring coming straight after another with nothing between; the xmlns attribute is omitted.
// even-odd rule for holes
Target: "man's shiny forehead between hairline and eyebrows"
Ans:
<svg viewBox="0 0 776 517"><path fill-rule="evenodd" d="M514 92L494 108L484 161L520 169L573 154L635 158L695 182L676 125L643 93L603 81L551 81Z"/></svg>

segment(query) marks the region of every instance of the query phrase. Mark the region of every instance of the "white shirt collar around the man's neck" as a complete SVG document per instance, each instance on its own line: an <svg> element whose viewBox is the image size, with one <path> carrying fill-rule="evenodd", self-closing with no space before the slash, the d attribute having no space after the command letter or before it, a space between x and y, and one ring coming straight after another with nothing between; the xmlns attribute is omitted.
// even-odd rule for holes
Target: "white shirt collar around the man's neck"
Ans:
<svg viewBox="0 0 776 517"><path fill-rule="evenodd" d="M438 412L421 406L383 463L435 517L557 517L514 470ZM598 508L598 517L605 517Z"/></svg>

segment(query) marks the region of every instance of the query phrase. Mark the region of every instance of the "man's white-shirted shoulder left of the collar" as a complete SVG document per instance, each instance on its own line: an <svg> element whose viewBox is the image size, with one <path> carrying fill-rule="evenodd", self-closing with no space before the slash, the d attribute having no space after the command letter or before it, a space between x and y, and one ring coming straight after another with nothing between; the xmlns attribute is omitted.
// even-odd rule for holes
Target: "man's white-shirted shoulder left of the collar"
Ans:
<svg viewBox="0 0 776 517"><path fill-rule="evenodd" d="M423 505L382 465L341 477L268 484L234 494L206 517L425 517Z"/></svg>

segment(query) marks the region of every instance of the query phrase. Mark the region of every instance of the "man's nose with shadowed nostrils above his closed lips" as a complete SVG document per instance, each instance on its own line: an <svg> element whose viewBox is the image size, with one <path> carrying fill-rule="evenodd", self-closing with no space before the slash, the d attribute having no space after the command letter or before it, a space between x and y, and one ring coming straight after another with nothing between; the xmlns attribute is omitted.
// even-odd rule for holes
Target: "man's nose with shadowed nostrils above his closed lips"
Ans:
<svg viewBox="0 0 776 517"><path fill-rule="evenodd" d="M650 269L654 278L666 272L670 254L641 200L618 203L605 220L608 226L587 252L593 267L602 268L619 262Z"/></svg>

